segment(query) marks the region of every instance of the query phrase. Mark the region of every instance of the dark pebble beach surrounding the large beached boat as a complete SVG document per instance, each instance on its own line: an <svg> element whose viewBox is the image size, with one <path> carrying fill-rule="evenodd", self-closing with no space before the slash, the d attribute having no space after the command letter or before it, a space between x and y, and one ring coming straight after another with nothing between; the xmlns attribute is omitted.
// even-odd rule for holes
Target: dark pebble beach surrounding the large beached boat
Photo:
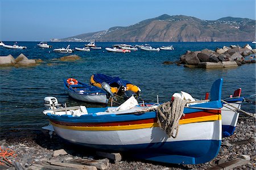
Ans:
<svg viewBox="0 0 256 170"><path fill-rule="evenodd" d="M207 169L239 158L240 155L249 156L250 163L235 169L253 169L255 168L255 131L255 119L240 114L234 134L222 138L218 155L208 163L197 165L163 164L134 159L121 153L123 159L120 162L110 161L107 169ZM6 135L1 134L0 145L1 148L10 148L15 151L17 156L9 160L13 164L19 162L24 169L30 169L29 167L33 164L45 164L49 160L65 163L72 159L104 159L95 154L96 150L65 142L56 134L50 138L48 131L43 129L33 130L32 133L18 130L10 131L8 135L7 133ZM53 157L53 151L60 149L64 149L68 154Z"/></svg>

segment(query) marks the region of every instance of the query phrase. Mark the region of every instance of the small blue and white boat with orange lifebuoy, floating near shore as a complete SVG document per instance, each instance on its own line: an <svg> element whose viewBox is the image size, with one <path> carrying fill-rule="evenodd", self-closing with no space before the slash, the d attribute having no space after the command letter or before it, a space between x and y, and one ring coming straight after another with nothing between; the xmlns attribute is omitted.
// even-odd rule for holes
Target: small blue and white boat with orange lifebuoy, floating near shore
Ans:
<svg viewBox="0 0 256 170"><path fill-rule="evenodd" d="M110 95L96 86L82 83L76 79L63 79L64 89L73 99L90 103L108 103Z"/></svg>

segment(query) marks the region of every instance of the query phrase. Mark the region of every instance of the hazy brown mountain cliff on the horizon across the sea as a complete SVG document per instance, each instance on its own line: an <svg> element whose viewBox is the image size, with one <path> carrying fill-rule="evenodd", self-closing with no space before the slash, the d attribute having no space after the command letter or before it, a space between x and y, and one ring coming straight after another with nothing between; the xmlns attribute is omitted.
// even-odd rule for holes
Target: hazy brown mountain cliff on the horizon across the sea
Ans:
<svg viewBox="0 0 256 170"><path fill-rule="evenodd" d="M84 33L60 41L117 42L199 42L253 41L255 20L226 17L201 20L191 16L167 14L146 19L128 27L112 27L106 31Z"/></svg>

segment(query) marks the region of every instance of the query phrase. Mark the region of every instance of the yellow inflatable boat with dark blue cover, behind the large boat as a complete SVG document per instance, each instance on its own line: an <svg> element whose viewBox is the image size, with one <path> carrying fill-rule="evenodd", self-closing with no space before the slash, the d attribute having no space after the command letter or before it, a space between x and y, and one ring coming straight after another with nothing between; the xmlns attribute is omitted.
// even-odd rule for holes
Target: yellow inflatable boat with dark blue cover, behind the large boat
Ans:
<svg viewBox="0 0 256 170"><path fill-rule="evenodd" d="M106 82L111 87L111 91L114 94L123 93L125 91L133 91L135 94L139 95L141 89L138 86L130 83L127 80L123 80L119 77L111 77L105 74L93 74L90 77L90 84L93 86L101 87L101 83Z"/></svg>

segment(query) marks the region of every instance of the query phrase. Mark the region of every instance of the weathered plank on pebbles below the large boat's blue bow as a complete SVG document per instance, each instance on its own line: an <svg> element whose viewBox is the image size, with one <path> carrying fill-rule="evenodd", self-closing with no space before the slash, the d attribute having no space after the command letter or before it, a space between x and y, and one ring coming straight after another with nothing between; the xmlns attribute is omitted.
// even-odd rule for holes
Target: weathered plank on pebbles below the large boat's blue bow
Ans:
<svg viewBox="0 0 256 170"><path fill-rule="evenodd" d="M245 160L245 159L241 159L241 158L237 158L234 160L230 160L229 162L225 162L219 165L216 165L215 167L209 168L209 170L229 170L229 169L233 169L236 167L240 167L242 165L245 165L247 163L249 163L250 160Z"/></svg>

